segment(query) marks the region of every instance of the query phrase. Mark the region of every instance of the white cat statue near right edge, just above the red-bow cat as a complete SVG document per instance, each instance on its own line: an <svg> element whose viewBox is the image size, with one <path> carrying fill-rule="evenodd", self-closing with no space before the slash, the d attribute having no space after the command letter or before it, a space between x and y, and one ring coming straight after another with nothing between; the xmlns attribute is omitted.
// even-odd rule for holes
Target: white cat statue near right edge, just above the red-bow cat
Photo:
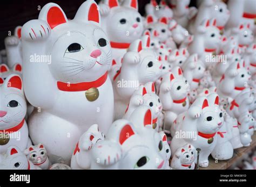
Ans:
<svg viewBox="0 0 256 187"><path fill-rule="evenodd" d="M221 77L217 85L217 92L221 97L228 97L233 100L246 88L250 78L251 74L245 68L245 62L232 63Z"/></svg>

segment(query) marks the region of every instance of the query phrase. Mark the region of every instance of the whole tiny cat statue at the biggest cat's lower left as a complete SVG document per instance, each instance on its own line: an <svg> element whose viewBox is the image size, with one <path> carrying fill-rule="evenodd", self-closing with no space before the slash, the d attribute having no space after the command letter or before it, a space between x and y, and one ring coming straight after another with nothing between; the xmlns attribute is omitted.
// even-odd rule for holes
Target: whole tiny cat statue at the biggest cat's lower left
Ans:
<svg viewBox="0 0 256 187"><path fill-rule="evenodd" d="M41 169L48 169L51 165L47 151L42 143L36 146L29 146L28 149L24 150L24 154L27 155L29 161Z"/></svg>

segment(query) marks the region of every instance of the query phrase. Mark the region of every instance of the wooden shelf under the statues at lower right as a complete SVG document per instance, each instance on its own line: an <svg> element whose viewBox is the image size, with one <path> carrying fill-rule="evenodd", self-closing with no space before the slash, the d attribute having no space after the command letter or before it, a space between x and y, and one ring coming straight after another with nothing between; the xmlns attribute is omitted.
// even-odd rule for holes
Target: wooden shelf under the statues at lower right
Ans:
<svg viewBox="0 0 256 187"><path fill-rule="evenodd" d="M251 146L234 149L234 154L233 154L232 159L218 161L218 163L215 163L215 160L212 158L212 156L209 156L209 166L207 168L200 167L199 169L201 169L201 170L204 170L204 169L228 169L232 166L232 164L234 164L239 159L241 159L242 155L250 152L250 150L252 150L255 147L256 147L256 133L254 133L252 135Z"/></svg>

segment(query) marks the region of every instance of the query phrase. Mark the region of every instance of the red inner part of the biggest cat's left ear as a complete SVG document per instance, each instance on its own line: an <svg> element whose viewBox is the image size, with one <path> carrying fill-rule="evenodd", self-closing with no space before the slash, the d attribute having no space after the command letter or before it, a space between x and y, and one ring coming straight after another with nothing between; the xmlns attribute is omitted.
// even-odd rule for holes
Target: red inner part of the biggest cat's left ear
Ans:
<svg viewBox="0 0 256 187"><path fill-rule="evenodd" d="M51 29L53 29L57 25L66 23L66 19L63 12L57 6L53 6L47 13L47 22Z"/></svg>

